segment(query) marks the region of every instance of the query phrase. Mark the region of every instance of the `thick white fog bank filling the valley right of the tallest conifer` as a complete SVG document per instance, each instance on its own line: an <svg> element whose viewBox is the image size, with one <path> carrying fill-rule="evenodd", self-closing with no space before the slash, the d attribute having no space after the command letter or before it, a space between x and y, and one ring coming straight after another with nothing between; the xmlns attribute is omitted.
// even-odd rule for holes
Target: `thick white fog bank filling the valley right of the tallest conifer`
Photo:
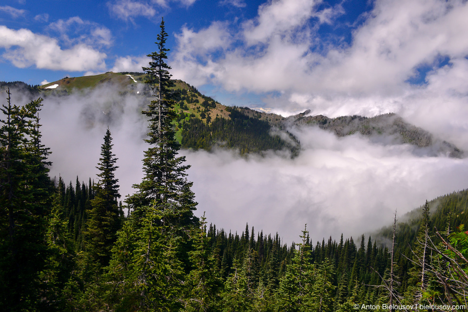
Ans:
<svg viewBox="0 0 468 312"><path fill-rule="evenodd" d="M304 223L312 240L339 239L388 225L395 209L401 216L426 199L466 187L467 159L417 157L409 145L337 138L317 128L294 134L304 150L293 160L185 153L198 214L206 211L217 228L240 232L249 222L288 242Z"/></svg>

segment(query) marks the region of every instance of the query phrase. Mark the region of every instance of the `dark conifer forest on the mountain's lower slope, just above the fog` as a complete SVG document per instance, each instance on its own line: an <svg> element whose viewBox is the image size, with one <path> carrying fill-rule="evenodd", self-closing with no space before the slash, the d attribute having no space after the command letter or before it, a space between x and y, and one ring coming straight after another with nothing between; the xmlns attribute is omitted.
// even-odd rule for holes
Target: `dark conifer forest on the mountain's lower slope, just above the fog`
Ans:
<svg viewBox="0 0 468 312"><path fill-rule="evenodd" d="M297 154L298 144L292 144L270 133L267 121L251 118L237 108L226 108L230 119L216 117L211 123L191 117L182 125L182 147L211 150L215 146L239 149L240 154L288 149ZM292 142L295 137L288 134Z"/></svg>

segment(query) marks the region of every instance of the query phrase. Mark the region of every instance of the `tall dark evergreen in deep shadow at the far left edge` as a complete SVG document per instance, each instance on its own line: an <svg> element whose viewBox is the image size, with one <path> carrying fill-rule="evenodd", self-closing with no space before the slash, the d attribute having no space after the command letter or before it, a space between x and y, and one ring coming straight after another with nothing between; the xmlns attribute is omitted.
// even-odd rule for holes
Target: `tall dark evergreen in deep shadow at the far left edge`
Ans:
<svg viewBox="0 0 468 312"><path fill-rule="evenodd" d="M48 150L40 144L42 99L0 111L0 310L35 311L45 265Z"/></svg>

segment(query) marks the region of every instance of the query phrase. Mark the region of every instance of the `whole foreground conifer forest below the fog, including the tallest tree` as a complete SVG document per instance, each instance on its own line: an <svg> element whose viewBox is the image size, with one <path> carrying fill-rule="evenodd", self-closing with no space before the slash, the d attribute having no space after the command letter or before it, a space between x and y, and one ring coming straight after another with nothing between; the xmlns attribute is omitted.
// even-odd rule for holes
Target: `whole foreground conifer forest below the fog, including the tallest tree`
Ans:
<svg viewBox="0 0 468 312"><path fill-rule="evenodd" d="M66 185L59 177L54 184L50 151L41 143L41 99L17 106L8 93L0 120L2 311L381 311L391 303L410 308L387 310L467 311L468 191L426 202L421 217L406 223L397 224L395 215L380 240L342 235L313 242L305 225L288 246L277 233L246 224L233 234L195 217L189 166L178 155L182 118L165 62L167 36L162 21L144 68L154 95L142 112L149 119L144 177L124 203L109 128L96 155L98 179ZM234 126L262 129L246 117L233 119ZM199 127L210 135L231 129L216 119L213 129ZM189 118L182 131L194 128ZM201 148L196 136L185 137ZM261 149L245 147L255 148Z"/></svg>

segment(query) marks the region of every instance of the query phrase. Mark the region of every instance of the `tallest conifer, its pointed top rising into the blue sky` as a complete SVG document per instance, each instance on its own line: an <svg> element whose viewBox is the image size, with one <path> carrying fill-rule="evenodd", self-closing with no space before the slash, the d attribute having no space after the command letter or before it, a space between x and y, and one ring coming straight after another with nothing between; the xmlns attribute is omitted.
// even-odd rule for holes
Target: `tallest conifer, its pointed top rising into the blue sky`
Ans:
<svg viewBox="0 0 468 312"><path fill-rule="evenodd" d="M151 58L150 67L143 70L148 75L146 83L152 88L154 100L148 105L148 110L142 114L149 118L148 138L145 141L150 147L145 151L143 159L144 178L135 185L137 194L127 199L134 211L138 207L149 204L171 205L179 203L181 188L185 184L185 171L190 167L183 165L185 156L177 156L180 145L176 141L173 123L176 120L174 111L176 93L171 88L169 69L165 48L168 34L161 21L160 33L157 35L157 51L148 55ZM191 220L187 220L191 221Z"/></svg>

